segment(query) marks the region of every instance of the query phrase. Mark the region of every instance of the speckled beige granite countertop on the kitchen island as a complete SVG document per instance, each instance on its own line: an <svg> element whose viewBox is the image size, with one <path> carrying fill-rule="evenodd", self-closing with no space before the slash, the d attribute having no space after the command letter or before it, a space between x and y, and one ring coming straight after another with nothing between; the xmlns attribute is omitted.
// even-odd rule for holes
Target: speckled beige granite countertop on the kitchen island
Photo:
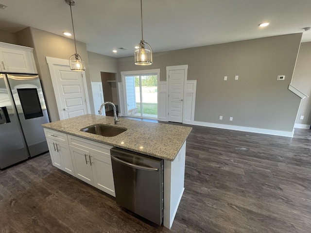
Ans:
<svg viewBox="0 0 311 233"><path fill-rule="evenodd" d="M127 130L117 136L104 137L80 131L94 124L105 124ZM44 128L136 151L156 158L173 161L192 128L120 118L117 125L112 116L86 114L42 125Z"/></svg>

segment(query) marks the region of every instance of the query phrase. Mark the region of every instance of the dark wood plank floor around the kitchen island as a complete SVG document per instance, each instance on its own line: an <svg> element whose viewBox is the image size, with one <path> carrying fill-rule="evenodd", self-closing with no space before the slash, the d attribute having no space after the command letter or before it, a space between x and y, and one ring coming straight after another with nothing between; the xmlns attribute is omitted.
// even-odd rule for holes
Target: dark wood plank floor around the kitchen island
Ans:
<svg viewBox="0 0 311 233"><path fill-rule="evenodd" d="M311 131L294 138L193 126L171 230L51 165L0 170L0 233L311 233Z"/></svg>

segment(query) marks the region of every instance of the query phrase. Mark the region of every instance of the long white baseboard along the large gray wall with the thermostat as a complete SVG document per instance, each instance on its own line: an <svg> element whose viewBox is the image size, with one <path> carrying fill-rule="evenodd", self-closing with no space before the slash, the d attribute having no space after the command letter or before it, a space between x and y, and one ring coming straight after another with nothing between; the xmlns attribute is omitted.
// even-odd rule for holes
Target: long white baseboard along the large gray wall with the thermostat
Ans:
<svg viewBox="0 0 311 233"><path fill-rule="evenodd" d="M216 124L216 123L209 123L209 122L201 122L201 121L191 121L191 122L188 122L188 124L207 126L207 127L212 127L212 128L220 128L220 129L226 129L226 130L244 131L244 132L250 132L250 133L263 133L263 134L285 136L285 137L293 137L294 135L294 130L293 132L280 131L280 130L268 130L268 129L252 128L252 127L237 126L237 125L224 125L224 124Z"/></svg>

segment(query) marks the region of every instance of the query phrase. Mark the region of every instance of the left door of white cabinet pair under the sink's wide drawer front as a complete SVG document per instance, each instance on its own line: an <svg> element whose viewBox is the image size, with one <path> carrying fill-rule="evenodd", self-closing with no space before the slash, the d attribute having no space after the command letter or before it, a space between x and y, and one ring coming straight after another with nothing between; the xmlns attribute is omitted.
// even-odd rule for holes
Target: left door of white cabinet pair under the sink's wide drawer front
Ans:
<svg viewBox="0 0 311 233"><path fill-rule="evenodd" d="M70 153L76 177L93 185L93 173L89 152L70 146Z"/></svg>

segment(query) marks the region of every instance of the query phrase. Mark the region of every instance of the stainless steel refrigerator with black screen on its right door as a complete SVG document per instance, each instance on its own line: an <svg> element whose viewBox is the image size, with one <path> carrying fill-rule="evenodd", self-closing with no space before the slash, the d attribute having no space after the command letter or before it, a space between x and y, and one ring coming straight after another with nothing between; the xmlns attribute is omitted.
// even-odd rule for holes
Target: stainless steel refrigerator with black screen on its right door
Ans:
<svg viewBox="0 0 311 233"><path fill-rule="evenodd" d="M48 151L48 122L39 76L0 73L0 169Z"/></svg>

